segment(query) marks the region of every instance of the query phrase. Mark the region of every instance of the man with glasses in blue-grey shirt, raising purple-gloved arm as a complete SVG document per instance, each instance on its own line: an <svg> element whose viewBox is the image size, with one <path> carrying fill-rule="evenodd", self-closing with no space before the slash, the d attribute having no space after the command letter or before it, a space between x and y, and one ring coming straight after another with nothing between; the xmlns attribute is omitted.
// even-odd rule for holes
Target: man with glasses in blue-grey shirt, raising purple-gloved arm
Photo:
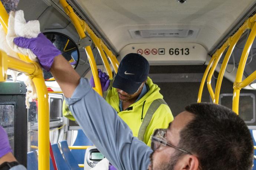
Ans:
<svg viewBox="0 0 256 170"><path fill-rule="evenodd" d="M43 35L15 38L14 43L32 50L42 67L51 71L85 135L117 169L252 168L253 143L249 129L232 110L211 103L189 105L167 129L155 130L150 148L132 135L115 109Z"/></svg>

